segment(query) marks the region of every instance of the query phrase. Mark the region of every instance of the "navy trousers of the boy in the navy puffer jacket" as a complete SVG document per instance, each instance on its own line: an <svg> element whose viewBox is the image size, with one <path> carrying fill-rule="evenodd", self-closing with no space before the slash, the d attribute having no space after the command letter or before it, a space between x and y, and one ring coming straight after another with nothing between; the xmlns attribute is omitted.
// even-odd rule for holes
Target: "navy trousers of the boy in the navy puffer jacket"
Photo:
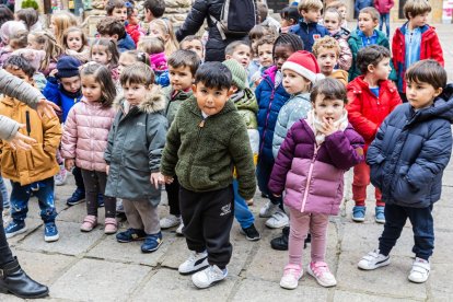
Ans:
<svg viewBox="0 0 453 302"><path fill-rule="evenodd" d="M434 223L432 205L427 208L409 208L396 205L385 205L384 231L379 239L379 249L382 255L388 255L402 234L406 220L409 219L414 231L413 253L428 260L434 248Z"/></svg>

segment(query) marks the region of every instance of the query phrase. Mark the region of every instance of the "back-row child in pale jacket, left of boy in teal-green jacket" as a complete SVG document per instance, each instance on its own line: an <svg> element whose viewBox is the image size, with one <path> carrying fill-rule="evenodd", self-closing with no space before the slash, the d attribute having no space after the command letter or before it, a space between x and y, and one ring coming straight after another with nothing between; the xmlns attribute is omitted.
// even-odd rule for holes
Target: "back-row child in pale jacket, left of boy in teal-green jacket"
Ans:
<svg viewBox="0 0 453 302"><path fill-rule="evenodd" d="M330 36L338 42L338 45L340 47L340 53L338 56L338 67L339 69L348 71L349 68L351 68L352 62L352 53L348 44L350 32L348 30L340 27L340 22L341 15L337 10L326 10L326 12L324 13L324 26L326 26L327 31L330 33Z"/></svg>

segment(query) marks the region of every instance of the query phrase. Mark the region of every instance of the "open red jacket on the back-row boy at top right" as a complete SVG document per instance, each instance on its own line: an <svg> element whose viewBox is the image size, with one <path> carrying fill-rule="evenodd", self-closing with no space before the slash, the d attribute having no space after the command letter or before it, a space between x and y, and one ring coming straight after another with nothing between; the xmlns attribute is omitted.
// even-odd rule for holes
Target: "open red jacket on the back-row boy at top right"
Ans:
<svg viewBox="0 0 453 302"><path fill-rule="evenodd" d="M397 76L398 91L406 93L406 43L405 33L406 24L403 24L399 28L396 28L395 35L392 42L393 66ZM442 47L439 42L435 28L429 25L425 25L421 28L421 44L420 44L420 60L434 59L440 65L444 66Z"/></svg>

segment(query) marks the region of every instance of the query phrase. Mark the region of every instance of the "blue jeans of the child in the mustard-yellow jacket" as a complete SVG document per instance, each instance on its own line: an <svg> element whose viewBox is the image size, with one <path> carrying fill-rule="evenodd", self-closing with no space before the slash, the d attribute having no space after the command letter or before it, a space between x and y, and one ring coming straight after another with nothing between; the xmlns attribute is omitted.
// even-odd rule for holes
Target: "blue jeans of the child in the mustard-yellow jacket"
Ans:
<svg viewBox="0 0 453 302"><path fill-rule="evenodd" d="M28 200L32 190L39 202L40 218L44 223L55 222L57 210L54 200L54 177L21 186L11 181L11 217L15 221L24 221L28 212Z"/></svg>

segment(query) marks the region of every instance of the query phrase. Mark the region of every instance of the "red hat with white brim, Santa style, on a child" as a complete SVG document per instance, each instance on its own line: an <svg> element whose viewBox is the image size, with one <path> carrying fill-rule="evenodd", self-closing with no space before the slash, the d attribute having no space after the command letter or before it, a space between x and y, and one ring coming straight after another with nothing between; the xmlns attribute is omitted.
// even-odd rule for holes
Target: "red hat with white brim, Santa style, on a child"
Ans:
<svg viewBox="0 0 453 302"><path fill-rule="evenodd" d="M313 56L312 53L305 50L299 50L292 54L281 67L281 71L287 69L304 77L313 84L315 84L316 81L324 79L320 66L317 65L316 57Z"/></svg>

